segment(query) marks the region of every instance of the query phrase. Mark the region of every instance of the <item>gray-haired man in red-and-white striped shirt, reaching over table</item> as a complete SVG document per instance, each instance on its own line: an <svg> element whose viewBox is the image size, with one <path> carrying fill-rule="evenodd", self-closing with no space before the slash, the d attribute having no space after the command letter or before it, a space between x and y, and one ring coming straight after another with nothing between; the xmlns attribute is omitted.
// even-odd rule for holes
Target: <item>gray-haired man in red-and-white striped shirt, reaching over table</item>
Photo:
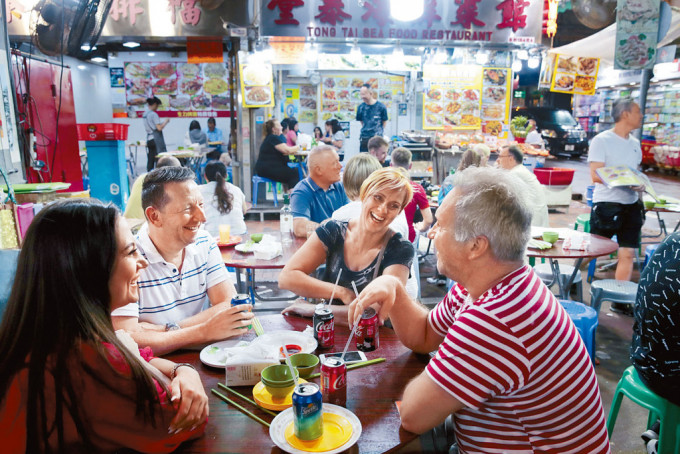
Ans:
<svg viewBox="0 0 680 454"><path fill-rule="evenodd" d="M401 420L423 433L454 414L461 452L608 453L597 378L574 324L523 258L531 209L520 180L457 174L430 232L437 268L458 282L434 310L379 277L350 306L389 315L417 352L438 348L405 389Z"/></svg>

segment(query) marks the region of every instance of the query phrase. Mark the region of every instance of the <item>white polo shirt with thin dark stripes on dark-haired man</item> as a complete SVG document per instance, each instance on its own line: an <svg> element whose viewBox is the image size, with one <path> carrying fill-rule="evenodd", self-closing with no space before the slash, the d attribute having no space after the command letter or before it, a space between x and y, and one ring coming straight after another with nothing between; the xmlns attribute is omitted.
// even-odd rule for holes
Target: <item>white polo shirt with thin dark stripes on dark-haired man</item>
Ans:
<svg viewBox="0 0 680 454"><path fill-rule="evenodd" d="M156 325L179 323L207 308L208 289L227 279L227 269L215 239L199 230L184 251L181 273L166 262L149 238L144 224L137 234L137 247L149 266L141 271L139 301L114 310L111 315L139 317Z"/></svg>

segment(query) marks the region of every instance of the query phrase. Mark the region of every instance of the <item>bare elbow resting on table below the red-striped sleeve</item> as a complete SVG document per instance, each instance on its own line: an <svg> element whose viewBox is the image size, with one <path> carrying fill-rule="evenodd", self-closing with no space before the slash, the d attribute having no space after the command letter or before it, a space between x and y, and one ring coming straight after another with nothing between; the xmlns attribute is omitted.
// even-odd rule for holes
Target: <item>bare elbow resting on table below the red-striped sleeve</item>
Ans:
<svg viewBox="0 0 680 454"><path fill-rule="evenodd" d="M409 432L421 434L463 407L462 402L444 391L423 371L404 390L399 409L401 425Z"/></svg>

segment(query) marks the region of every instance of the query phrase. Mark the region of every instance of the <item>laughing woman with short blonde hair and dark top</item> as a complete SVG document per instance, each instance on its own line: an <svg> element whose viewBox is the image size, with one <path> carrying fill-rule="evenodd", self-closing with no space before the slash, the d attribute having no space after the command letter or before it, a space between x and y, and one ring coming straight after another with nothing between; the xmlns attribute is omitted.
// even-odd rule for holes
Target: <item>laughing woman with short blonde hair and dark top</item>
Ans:
<svg viewBox="0 0 680 454"><path fill-rule="evenodd" d="M408 178L393 168L370 174L359 193L361 213L349 221L324 221L298 249L279 275L279 287L308 298L328 299L338 272L342 270L332 307L336 323L347 323L347 305L355 298L352 281L361 292L381 275L391 275L406 284L413 261L413 245L390 228L413 197ZM322 279L310 276L326 264ZM284 314L311 316L314 306L296 303Z"/></svg>

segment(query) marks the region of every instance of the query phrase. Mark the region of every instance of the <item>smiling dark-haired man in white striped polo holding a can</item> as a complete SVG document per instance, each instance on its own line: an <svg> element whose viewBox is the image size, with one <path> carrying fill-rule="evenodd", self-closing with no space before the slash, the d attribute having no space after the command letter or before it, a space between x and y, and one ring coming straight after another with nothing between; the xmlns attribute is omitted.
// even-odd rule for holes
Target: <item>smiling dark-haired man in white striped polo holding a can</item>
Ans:
<svg viewBox="0 0 680 454"><path fill-rule="evenodd" d="M193 172L149 172L142 208L147 222L136 243L149 266L138 280L139 301L111 314L114 328L156 354L242 334L252 314L241 311L251 307L231 307L236 290L215 240L201 230L203 198Z"/></svg>

